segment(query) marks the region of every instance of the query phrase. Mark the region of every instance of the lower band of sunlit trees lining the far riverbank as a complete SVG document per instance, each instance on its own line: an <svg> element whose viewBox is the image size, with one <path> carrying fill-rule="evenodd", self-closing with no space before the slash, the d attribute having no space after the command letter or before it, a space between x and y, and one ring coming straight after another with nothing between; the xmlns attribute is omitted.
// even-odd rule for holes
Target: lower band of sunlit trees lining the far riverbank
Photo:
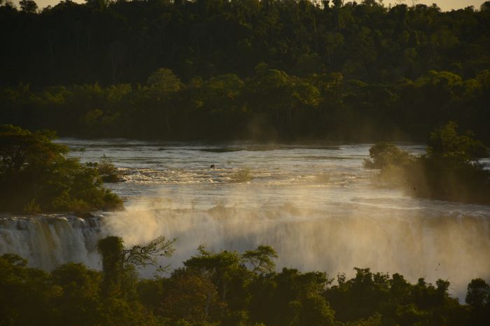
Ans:
<svg viewBox="0 0 490 326"><path fill-rule="evenodd" d="M263 62L253 71L184 83L162 68L135 85L0 87L0 122L88 138L423 141L453 120L490 141L490 71L428 71L392 84L298 77Z"/></svg>

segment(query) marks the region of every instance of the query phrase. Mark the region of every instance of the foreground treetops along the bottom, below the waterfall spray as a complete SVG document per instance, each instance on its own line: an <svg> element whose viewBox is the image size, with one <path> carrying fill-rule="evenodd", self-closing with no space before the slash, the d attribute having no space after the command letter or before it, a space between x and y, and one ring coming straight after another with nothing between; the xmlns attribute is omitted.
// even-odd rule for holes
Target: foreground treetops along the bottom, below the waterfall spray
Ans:
<svg viewBox="0 0 490 326"><path fill-rule="evenodd" d="M466 304L448 294L449 281L409 283L356 268L347 279L321 271L275 270L276 252L258 246L197 255L169 276L139 278L138 267L174 252L163 237L125 248L99 241L102 271L64 264L51 272L0 256L1 325L486 325L490 286L468 284Z"/></svg>

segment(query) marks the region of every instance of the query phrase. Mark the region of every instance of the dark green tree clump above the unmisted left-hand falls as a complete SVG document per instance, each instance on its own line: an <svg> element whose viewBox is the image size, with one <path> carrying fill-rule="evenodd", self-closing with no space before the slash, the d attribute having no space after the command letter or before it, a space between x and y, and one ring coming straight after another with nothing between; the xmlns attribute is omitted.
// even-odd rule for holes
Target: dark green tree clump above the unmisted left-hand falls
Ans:
<svg viewBox="0 0 490 326"><path fill-rule="evenodd" d="M0 126L1 211L23 213L116 209L123 201L102 186L97 169L66 157L49 131Z"/></svg>

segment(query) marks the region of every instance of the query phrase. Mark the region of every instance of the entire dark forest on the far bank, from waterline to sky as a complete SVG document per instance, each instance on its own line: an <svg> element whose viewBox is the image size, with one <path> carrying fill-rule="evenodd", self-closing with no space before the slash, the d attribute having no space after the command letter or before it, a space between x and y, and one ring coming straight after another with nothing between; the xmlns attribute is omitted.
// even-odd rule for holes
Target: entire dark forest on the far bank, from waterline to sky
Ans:
<svg viewBox="0 0 490 326"><path fill-rule="evenodd" d="M0 123L62 136L490 141L490 1L0 6Z"/></svg>

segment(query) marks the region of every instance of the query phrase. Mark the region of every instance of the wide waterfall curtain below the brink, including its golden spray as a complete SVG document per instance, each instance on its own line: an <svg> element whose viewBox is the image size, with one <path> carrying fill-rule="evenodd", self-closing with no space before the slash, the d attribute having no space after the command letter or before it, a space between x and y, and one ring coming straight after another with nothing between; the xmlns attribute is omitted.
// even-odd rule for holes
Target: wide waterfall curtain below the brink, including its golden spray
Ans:
<svg viewBox="0 0 490 326"><path fill-rule="evenodd" d="M336 212L334 206L329 211L294 204L198 209L145 202L90 218L8 216L0 218L0 254L18 254L30 266L47 270L65 262L100 269L96 244L102 236L122 236L126 246L133 246L163 235L177 239L174 257L160 262L171 268L195 255L200 244L239 252L269 245L279 253L279 270L319 270L330 277L345 272L351 277L353 267L370 267L400 273L412 282L442 278L451 282L451 293L460 299L472 278L490 278L490 219L485 211L427 215L356 206L346 215L347 204L338 205L342 210ZM146 269L141 275L151 277L153 272Z"/></svg>

